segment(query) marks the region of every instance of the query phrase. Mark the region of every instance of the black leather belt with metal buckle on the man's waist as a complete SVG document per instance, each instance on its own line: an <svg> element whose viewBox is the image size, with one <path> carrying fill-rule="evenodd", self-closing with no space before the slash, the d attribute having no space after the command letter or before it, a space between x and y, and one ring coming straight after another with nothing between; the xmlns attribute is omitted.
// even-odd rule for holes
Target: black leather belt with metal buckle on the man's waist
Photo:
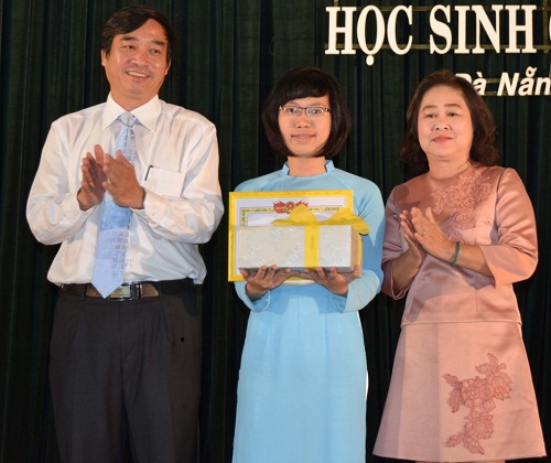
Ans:
<svg viewBox="0 0 551 463"><path fill-rule="evenodd" d="M179 292L193 291L195 284L191 278L168 281L138 281L134 283L122 283L107 298L111 301L132 301L142 298L156 298L160 294L176 294ZM61 290L69 294L104 299L91 283L63 284Z"/></svg>

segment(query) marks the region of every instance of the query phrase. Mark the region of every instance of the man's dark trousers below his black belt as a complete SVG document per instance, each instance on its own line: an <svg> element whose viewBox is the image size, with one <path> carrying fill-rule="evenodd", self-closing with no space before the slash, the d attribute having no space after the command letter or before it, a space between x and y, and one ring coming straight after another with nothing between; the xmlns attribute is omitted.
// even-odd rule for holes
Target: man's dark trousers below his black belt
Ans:
<svg viewBox="0 0 551 463"><path fill-rule="evenodd" d="M62 292L50 365L62 461L191 462L201 356L193 291L122 302Z"/></svg>

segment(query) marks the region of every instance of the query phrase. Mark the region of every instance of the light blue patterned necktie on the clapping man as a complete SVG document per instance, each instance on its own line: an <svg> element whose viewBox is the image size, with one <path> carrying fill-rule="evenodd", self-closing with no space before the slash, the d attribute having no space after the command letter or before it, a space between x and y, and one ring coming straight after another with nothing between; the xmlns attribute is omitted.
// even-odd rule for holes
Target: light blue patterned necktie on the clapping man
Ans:
<svg viewBox="0 0 551 463"><path fill-rule="evenodd" d="M119 116L119 120L123 127L117 136L115 149L121 150L122 154L133 163L136 161L133 125L137 118L130 112L125 112ZM104 298L123 281L130 214L128 207L115 204L111 195L106 192L91 276L91 283Z"/></svg>

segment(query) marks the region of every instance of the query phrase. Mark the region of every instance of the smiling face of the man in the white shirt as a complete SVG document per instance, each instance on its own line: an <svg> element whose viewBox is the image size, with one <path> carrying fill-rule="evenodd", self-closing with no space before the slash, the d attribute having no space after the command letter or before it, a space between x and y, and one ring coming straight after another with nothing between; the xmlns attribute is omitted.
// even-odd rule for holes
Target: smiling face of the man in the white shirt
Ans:
<svg viewBox="0 0 551 463"><path fill-rule="evenodd" d="M171 65L166 53L164 29L154 20L145 21L136 31L115 35L109 54L101 52L101 65L115 101L132 110L153 98Z"/></svg>

